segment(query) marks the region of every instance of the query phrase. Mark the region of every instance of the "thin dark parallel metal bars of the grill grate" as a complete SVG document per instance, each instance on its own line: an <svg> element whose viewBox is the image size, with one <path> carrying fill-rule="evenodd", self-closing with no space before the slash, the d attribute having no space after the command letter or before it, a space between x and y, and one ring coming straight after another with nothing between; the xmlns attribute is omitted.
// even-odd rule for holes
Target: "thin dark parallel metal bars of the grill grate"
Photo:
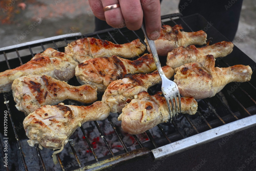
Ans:
<svg viewBox="0 0 256 171"><path fill-rule="evenodd" d="M192 29L190 28L190 26L184 21L184 19L182 18L182 16L181 16L180 14L171 14L171 15L163 16L162 19L165 19L165 20L166 20L166 19L169 19L169 22L172 22L172 23L175 24L175 25L177 24L175 20L176 20L176 19L179 19L182 23L178 23L178 24L186 25L186 26L189 28L189 30L186 30L186 31L197 31L197 30L192 30ZM164 22L162 22L162 24L164 24ZM116 30L118 31L118 33L119 33L120 35L122 35L122 38L124 38L124 39L126 40L126 42L131 42L131 40L123 33L123 31L125 30L125 28L116 29ZM127 30L127 29L126 29L126 30ZM110 41L112 41L112 42L118 44L118 42L115 40L115 38L114 38L113 35L111 34L111 31L106 31L106 32L104 32L104 33L107 33L107 34L108 34L108 37L111 38ZM140 36L138 36L138 34L137 34L135 31L130 31L130 33L134 34L133 36L139 38L140 41L145 45L144 40L143 40ZM103 37L100 36L100 33L98 33L98 34L95 34L95 33L86 34L86 35L84 35L84 36L82 36L82 37L95 37L95 38L103 39ZM64 39L61 39L61 41L65 41L65 43L68 44L68 40L70 40L70 39L72 39L72 40L77 40L77 39L79 39L79 38L81 38L81 37L75 36L75 37L73 37L73 38L64 38ZM22 48L11 49L11 50L8 50L8 51L2 51L2 52L0 51L0 54L3 54L3 55L4 55L5 60L6 60L6 65L7 65L8 69L11 69L10 64L9 64L9 61L8 61L8 59L7 59L6 53L15 51L16 54L17 54L17 57L18 57L18 59L19 59L19 61L20 61L20 63L21 63L21 65L22 65L23 62L22 62L22 58L21 58L20 55L19 55L19 50L21 50L21 49L29 49L31 56L34 57L34 53L33 53L33 51L32 51L32 47L34 47L34 46L41 46L42 50L44 51L44 50L45 50L44 45L52 43L52 44L54 45L55 49L59 51L59 48L58 48L58 46L56 45L56 42L57 42L57 40L53 40L53 41L51 41L51 42L43 42L43 43L40 43L39 45L29 45L29 46L25 46L25 47L22 47ZM220 61L221 61L222 63L224 63L224 65L226 65L227 67L229 67L228 63L226 63L224 60L221 59ZM256 91L256 88L255 88L251 83L246 82L245 84L248 84L252 89L254 89L254 90ZM241 88L241 87L239 87L239 90L241 91L241 93L245 94L245 95L256 105L255 100L253 100L253 98L249 95L249 93L247 93L247 92L246 92L243 88ZM222 91L227 91L227 88L225 87ZM232 99L233 99L233 100L237 103L237 105L240 107L240 109L242 109L242 110L244 111L244 113L246 113L247 116L250 116L250 115L251 115L250 112L248 112L248 110L239 102L239 100L238 100L232 93L230 93L230 95L231 95ZM216 98L218 99L218 101L223 105L223 107L224 107L225 109L227 109L228 113L233 116L233 119L234 119L234 120L238 120L238 117L231 111L231 109L226 105L226 103L222 100L222 98L221 98L218 94L216 94L215 97L216 97ZM8 101L8 97L6 96L6 93L4 94L4 101ZM220 122L222 125L226 124L226 123L223 121L223 119L219 116L219 114L216 112L216 110L211 106L210 101L209 101L208 99L202 100L202 103L205 103L205 104L209 107L209 109L210 109L211 111L213 111L213 114L218 118L219 122ZM6 103L6 106L7 106L8 113L9 113L9 119L10 119L10 121L11 121L11 123L12 123L12 127L13 127L13 130L14 130L15 138L16 138L16 140L17 140L17 144L18 144L19 152L20 152L20 157L22 158L22 162L23 162L23 165L24 165L24 169L25 169L25 170L28 170L27 164L26 164L26 161L25 161L25 155L24 155L24 153L23 153L23 149L22 149L22 146L21 146L21 143L20 143L20 140L19 140L19 136L18 136L18 134L17 134L17 130L16 130L16 127L15 127L14 122L13 122L13 119L12 119L12 118L13 118L13 115L12 115L12 113L11 113L11 111L10 111L10 106L9 106L8 103ZM209 124L209 122L206 120L206 117L205 117L199 110L197 111L197 114L200 116L201 120L204 121L204 123L208 126L208 130L209 130L209 129L212 129L212 126L211 126L211 125ZM196 134L200 133L199 130L197 129L197 127L195 126L195 124L193 124L193 122L191 121L190 116L189 116L188 114L183 114L183 115L185 116L185 118L187 119L187 121L189 122L189 124L191 125L192 129L194 130L194 132L195 132ZM245 116L245 117L246 117L246 116ZM124 153L129 152L129 149L126 147L125 142L122 140L122 137L120 136L120 131L119 131L118 129L116 129L116 126L115 126L114 123L112 122L112 119L111 119L110 116L108 117L108 121L109 121L109 123L111 124L112 129L114 130L116 136L118 136L118 139L119 139L119 141L121 142L121 144L122 144L122 146L123 146ZM185 138L184 131L181 131L181 130L178 128L176 122L178 122L178 121L174 118L169 124L172 124L172 125L175 127L176 132L177 132L177 133L179 134L179 136L180 136L180 139L183 139L183 138ZM106 140L106 138L105 138L104 133L102 132L102 129L100 128L99 123L96 122L96 121L94 121L94 124L95 124L95 126L97 127L97 129L98 129L98 131L99 131L99 133L100 133L100 136L101 136L101 138L103 139L103 141L104 141L106 147L108 148L109 153L111 154L111 157L115 156L115 154L113 153L113 151L112 151L112 149L111 149L111 146L109 145L109 143L107 142L107 140ZM167 143L171 143L172 141L170 140L169 136L166 135L166 133L165 133L165 131L163 130L162 126L161 126L161 125L157 125L157 126L158 126L159 130L161 131L162 136L163 136L163 137L165 138L165 140L167 141ZM92 154L93 154L93 156L94 156L94 158L95 158L95 162L99 162L99 157L96 155L96 153L95 153L95 151L94 151L94 149L93 149L93 147L92 147L92 144L91 144L91 142L90 142L90 140L89 140L89 138L88 138L86 132L84 131L84 128L83 128L82 126L81 126L80 128L81 128L82 133L83 133L83 136L85 137L85 140L86 140L86 142L87 142L87 144L88 144L88 146L89 146L89 148L90 148L90 150L91 150L91 152L92 152ZM154 139L154 137L152 136L152 134L150 133L150 131L146 131L146 135L148 136L148 138L149 138L149 140L150 140L149 142L151 142L151 143L153 144L153 147L154 147L154 148L157 148L159 145L158 145L157 142L155 141L155 139ZM191 134L190 136L192 136L192 135L194 135L194 134ZM136 140L136 142L137 142L139 148L144 147L144 143L142 143L136 135L133 135L133 137L134 137L134 139ZM2 146L1 140L0 140L0 143L1 143L1 151L2 151L2 155L3 155L3 146ZM73 145L72 145L71 142L69 142L69 145L70 145L70 148L72 149L72 152L73 152L73 155L74 155L74 157L75 157L75 159L76 159L76 162L77 162L78 167L79 167L79 168L82 168L84 165L81 164L81 162L80 162L80 160L79 160L79 158L78 158L78 156L77 156L76 150L74 149L74 147L73 147ZM40 150L39 150L38 145L36 145L35 148L36 148L38 157L39 157L39 159L40 159L40 163L41 163L42 169L43 169L43 170L46 170L45 162L44 162L44 159L43 159L42 156L41 156L41 153L40 153ZM64 169L64 166L63 166L63 164L62 164L62 161L61 161L61 158L60 158L59 154L57 154L57 159L58 159L58 162L59 162L59 164L60 164L61 169L64 171L65 169ZM8 168L6 168L6 170L8 170Z"/></svg>

